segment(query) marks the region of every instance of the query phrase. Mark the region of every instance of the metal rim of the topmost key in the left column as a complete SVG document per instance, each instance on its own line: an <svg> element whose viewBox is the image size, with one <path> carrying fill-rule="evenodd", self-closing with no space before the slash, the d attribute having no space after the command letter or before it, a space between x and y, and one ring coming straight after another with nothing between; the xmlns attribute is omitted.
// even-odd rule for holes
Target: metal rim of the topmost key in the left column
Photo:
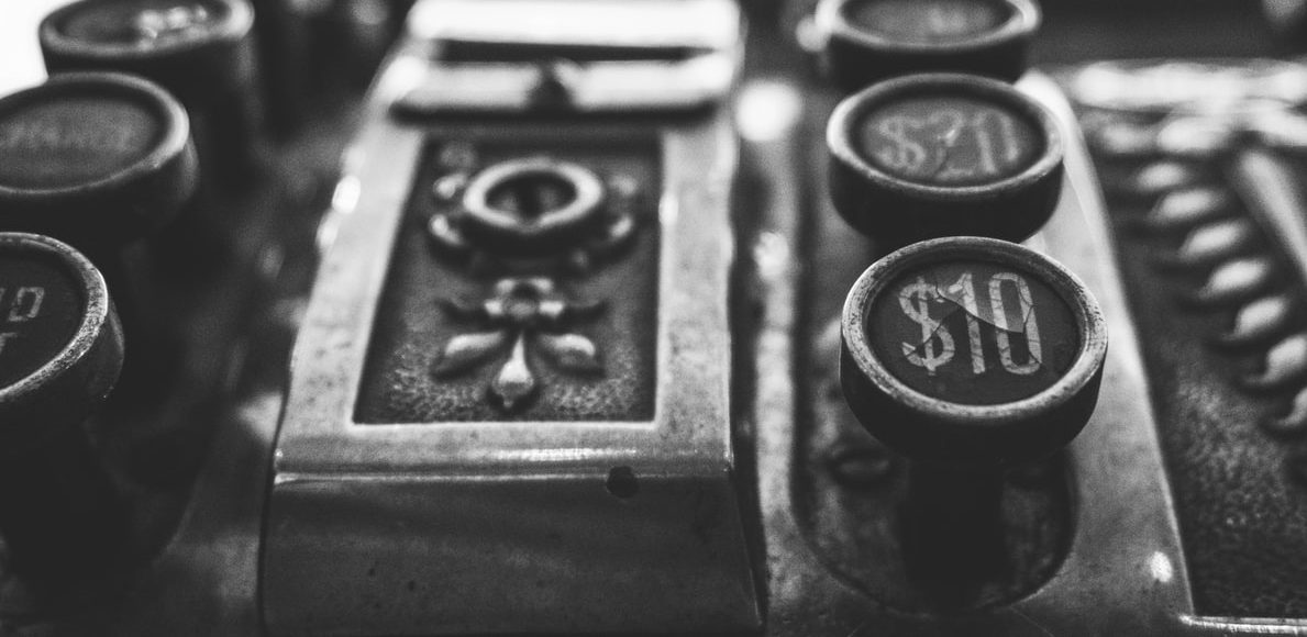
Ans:
<svg viewBox="0 0 1307 637"><path fill-rule="evenodd" d="M64 33L64 21L85 9L101 4L101 0L82 0L63 7L41 21L41 43L47 50L65 56L90 57L97 60L149 60L163 57L184 51L195 51L208 47L214 42L237 42L244 38L254 26L254 10L250 4L242 0L208 0L225 9L225 20L213 23L208 37L173 42L163 47L141 48L132 44L114 44L106 42L85 42L72 38Z"/></svg>

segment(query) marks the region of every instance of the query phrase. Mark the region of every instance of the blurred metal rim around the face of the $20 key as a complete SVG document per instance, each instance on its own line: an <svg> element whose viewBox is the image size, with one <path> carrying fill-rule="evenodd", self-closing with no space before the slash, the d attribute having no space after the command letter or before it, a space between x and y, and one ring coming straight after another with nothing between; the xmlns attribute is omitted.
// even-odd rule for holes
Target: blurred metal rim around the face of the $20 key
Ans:
<svg viewBox="0 0 1307 637"><path fill-rule="evenodd" d="M864 159L853 148L853 128L868 111L891 99L912 95L976 95L1001 106L1016 108L1027 120L1043 129L1044 149L1039 159L1023 171L991 184L929 185L893 176ZM1063 158L1063 140L1057 124L1044 107L1010 85L987 77L962 73L920 73L904 76L863 89L844 98L830 116L826 127L826 145L844 166L859 176L882 188L932 200L970 200L976 196L996 196L1027 188L1052 171Z"/></svg>

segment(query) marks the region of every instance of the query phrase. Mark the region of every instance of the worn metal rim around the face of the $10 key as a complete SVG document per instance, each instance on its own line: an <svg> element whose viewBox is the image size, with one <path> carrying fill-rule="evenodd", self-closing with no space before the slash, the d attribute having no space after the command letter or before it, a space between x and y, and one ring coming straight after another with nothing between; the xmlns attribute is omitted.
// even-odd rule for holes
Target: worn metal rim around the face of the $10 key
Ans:
<svg viewBox="0 0 1307 637"><path fill-rule="evenodd" d="M1040 277L1070 305L1081 341L1067 373L1039 393L1002 405L965 405L942 401L912 389L881 364L864 334L870 303L895 275L927 261L967 257L1014 266ZM1098 373L1107 355L1107 326L1089 288L1051 258L1014 243L980 236L948 236L915 243L872 264L853 283L840 313L840 337L853 363L869 382L916 414L967 426L1002 426L1046 412L1074 398Z"/></svg>

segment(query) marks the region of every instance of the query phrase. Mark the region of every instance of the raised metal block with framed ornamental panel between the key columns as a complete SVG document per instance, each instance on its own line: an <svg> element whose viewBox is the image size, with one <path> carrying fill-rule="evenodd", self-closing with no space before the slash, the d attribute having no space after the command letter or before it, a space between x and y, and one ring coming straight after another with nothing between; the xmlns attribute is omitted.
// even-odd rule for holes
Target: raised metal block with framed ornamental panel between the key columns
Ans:
<svg viewBox="0 0 1307 637"><path fill-rule="evenodd" d="M729 112L395 116L423 81L408 70L420 50L374 87L324 230L276 446L268 630L757 629L758 521L732 424ZM634 236L606 256L503 257L460 225L477 197L448 218L423 198L461 162L450 140L491 166L627 174L647 202L630 206ZM442 298L457 320L442 322ZM561 341L570 358L548 351Z"/></svg>

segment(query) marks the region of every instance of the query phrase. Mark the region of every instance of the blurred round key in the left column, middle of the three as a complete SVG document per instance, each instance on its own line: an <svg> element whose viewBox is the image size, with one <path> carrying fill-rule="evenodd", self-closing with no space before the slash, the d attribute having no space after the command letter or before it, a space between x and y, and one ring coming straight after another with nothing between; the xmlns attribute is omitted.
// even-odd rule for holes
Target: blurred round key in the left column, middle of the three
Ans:
<svg viewBox="0 0 1307 637"><path fill-rule="evenodd" d="M140 78L69 73L0 99L0 230L116 247L196 184L186 112Z"/></svg>

